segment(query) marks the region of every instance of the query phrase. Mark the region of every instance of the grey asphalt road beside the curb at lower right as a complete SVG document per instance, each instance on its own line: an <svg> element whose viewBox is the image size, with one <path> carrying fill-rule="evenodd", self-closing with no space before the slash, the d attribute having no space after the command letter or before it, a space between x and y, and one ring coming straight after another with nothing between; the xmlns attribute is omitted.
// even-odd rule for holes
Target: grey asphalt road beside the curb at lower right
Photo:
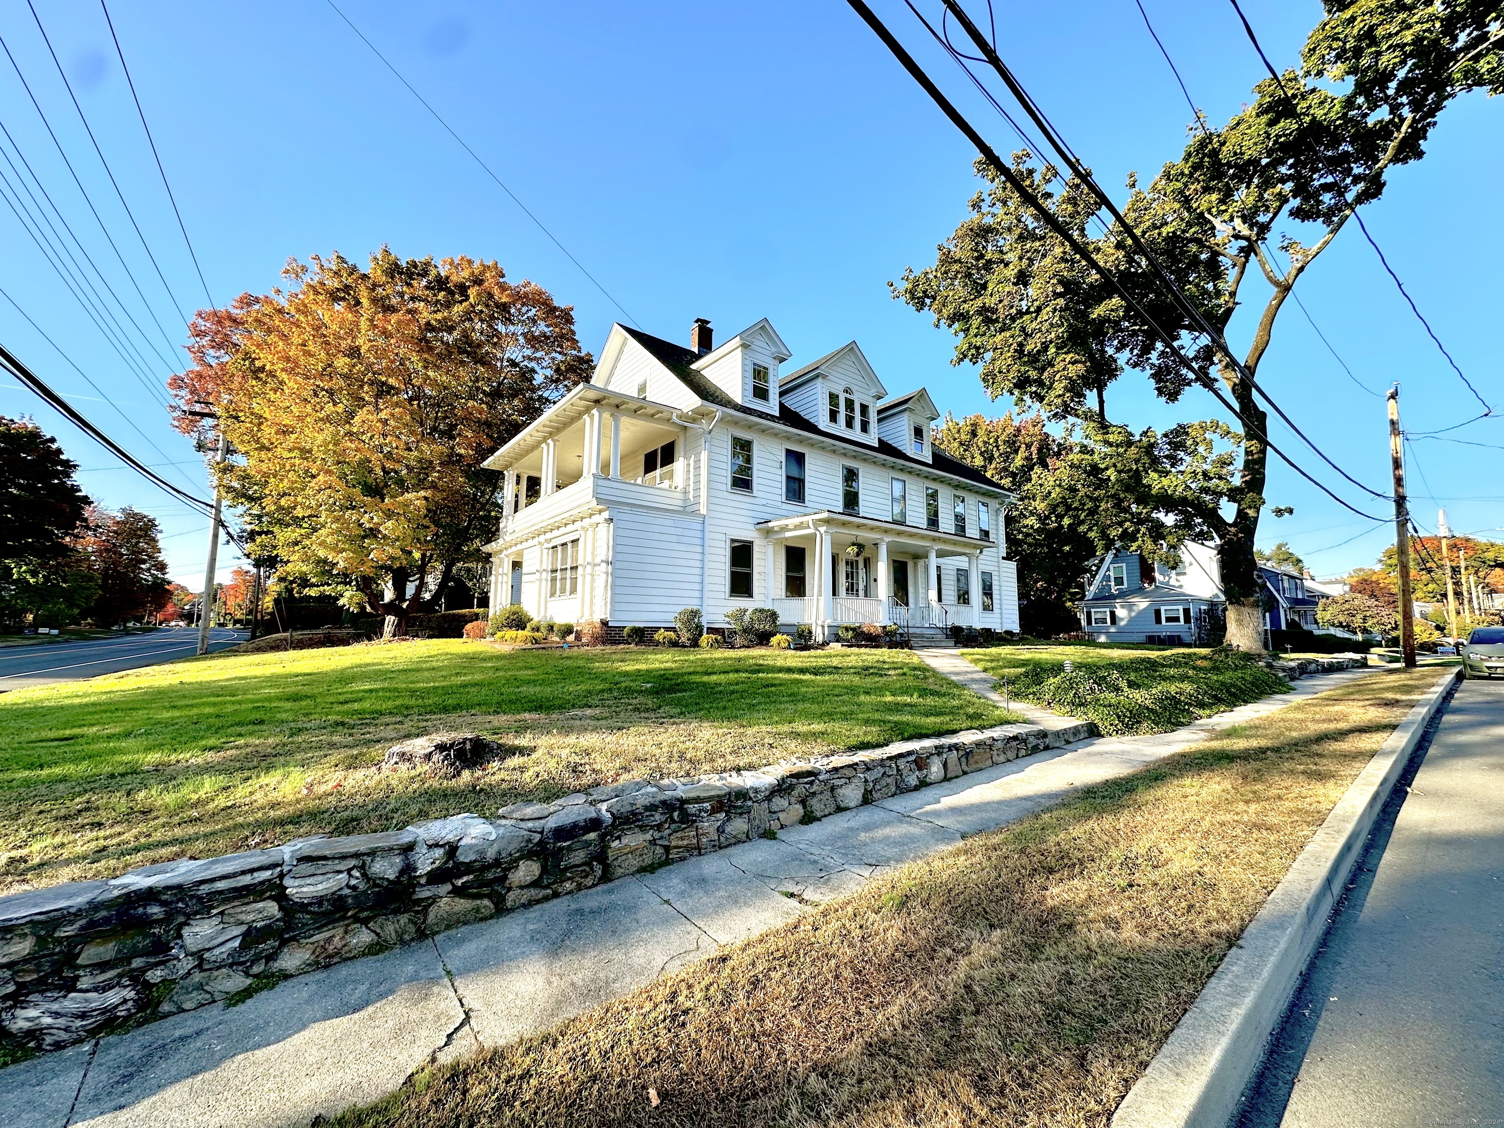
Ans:
<svg viewBox="0 0 1504 1128"><path fill-rule="evenodd" d="M1504 1125L1504 681L1400 784L1241 1128Z"/></svg>

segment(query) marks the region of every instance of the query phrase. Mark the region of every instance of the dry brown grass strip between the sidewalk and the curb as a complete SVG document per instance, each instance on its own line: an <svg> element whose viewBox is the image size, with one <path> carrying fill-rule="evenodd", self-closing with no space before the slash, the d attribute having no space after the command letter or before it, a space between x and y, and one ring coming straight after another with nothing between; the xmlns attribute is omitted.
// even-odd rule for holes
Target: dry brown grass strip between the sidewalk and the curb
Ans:
<svg viewBox="0 0 1504 1128"><path fill-rule="evenodd" d="M1227 729L341 1123L1105 1125L1435 680Z"/></svg>

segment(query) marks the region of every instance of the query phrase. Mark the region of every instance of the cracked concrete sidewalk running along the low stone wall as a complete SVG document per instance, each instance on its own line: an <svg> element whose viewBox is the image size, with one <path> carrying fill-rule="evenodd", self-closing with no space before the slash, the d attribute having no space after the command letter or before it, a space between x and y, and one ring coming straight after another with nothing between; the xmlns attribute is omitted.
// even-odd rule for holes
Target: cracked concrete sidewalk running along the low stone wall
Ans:
<svg viewBox="0 0 1504 1128"><path fill-rule="evenodd" d="M505 1045L860 889L893 866L1345 684L1152 737L1093 738L654 874L442 932L0 1071L6 1128L301 1128L427 1062Z"/></svg>

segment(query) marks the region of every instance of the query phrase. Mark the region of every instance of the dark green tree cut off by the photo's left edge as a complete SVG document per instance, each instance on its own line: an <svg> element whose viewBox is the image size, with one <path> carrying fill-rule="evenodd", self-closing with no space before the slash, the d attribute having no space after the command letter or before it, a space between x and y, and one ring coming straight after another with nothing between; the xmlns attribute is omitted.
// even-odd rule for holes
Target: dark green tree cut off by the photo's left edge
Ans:
<svg viewBox="0 0 1504 1128"><path fill-rule="evenodd" d="M98 594L69 537L89 498L57 441L0 415L0 624L66 626Z"/></svg>

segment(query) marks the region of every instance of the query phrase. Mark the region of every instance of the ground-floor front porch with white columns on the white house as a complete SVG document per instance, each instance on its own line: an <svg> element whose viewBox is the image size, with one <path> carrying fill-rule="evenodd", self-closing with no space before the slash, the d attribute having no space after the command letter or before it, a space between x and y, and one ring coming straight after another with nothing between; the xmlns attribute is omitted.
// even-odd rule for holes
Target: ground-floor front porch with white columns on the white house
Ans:
<svg viewBox="0 0 1504 1128"><path fill-rule="evenodd" d="M761 522L764 603L817 638L839 626L940 629L982 624L985 544L937 529L845 513Z"/></svg>

